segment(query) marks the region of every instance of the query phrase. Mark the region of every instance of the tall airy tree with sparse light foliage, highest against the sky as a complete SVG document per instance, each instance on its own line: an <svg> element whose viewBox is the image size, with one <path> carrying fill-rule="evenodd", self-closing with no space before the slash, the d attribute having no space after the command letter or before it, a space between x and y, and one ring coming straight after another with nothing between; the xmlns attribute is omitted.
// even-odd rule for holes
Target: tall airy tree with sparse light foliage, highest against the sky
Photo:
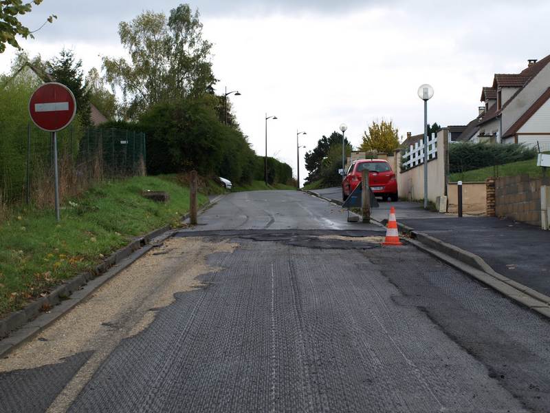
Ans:
<svg viewBox="0 0 550 413"><path fill-rule="evenodd" d="M107 81L120 86L126 117L135 118L148 107L187 96L200 96L216 82L210 63L212 44L202 39L199 12L181 4L164 13L146 11L118 33L131 61L103 59Z"/></svg>

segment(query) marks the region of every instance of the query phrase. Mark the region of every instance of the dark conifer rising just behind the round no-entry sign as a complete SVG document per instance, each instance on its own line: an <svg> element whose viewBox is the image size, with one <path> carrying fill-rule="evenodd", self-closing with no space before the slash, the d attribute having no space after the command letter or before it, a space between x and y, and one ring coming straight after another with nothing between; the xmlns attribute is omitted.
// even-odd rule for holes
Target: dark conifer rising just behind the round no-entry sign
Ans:
<svg viewBox="0 0 550 413"><path fill-rule="evenodd" d="M90 100L82 70L82 60L77 61L72 50L63 49L58 57L47 62L47 67L56 82L71 89L76 99L76 113L80 115L83 125L89 126L91 123Z"/></svg>

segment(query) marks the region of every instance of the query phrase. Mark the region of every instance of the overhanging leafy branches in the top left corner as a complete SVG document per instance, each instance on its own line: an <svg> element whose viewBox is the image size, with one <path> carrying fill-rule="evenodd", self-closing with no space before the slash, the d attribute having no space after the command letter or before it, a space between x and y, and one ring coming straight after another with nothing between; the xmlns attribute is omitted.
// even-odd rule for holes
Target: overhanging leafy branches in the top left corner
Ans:
<svg viewBox="0 0 550 413"><path fill-rule="evenodd" d="M33 4L38 6L40 3L42 3L42 0L32 0L28 3L23 3L21 0L0 1L0 53L5 51L5 43L21 50L16 36L21 36L23 39L28 39L29 37L34 39L32 35L34 32L43 28L47 22L52 23L54 19L57 19L57 16L52 14L39 29L32 32L29 28L22 25L17 17L29 13Z"/></svg>

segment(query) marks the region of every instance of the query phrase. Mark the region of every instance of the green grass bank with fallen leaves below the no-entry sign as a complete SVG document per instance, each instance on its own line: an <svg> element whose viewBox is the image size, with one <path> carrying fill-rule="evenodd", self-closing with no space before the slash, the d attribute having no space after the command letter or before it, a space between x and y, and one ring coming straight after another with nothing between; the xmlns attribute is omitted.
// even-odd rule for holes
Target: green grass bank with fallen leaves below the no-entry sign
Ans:
<svg viewBox="0 0 550 413"><path fill-rule="evenodd" d="M159 204L146 189L166 191ZM199 203L207 198L199 195ZM179 226L189 191L166 178L135 177L103 182L53 211L19 211L0 223L0 315L18 310L64 279L90 270L137 235L166 224Z"/></svg>

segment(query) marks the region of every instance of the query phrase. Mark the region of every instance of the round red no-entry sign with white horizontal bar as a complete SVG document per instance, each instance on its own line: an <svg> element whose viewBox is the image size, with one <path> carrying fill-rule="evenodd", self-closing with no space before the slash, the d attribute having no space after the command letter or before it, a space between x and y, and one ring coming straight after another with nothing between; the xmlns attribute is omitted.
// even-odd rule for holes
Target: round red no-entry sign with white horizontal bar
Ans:
<svg viewBox="0 0 550 413"><path fill-rule="evenodd" d="M45 83L30 97L29 113L40 129L61 131L71 123L76 114L76 100L67 86L54 82Z"/></svg>

